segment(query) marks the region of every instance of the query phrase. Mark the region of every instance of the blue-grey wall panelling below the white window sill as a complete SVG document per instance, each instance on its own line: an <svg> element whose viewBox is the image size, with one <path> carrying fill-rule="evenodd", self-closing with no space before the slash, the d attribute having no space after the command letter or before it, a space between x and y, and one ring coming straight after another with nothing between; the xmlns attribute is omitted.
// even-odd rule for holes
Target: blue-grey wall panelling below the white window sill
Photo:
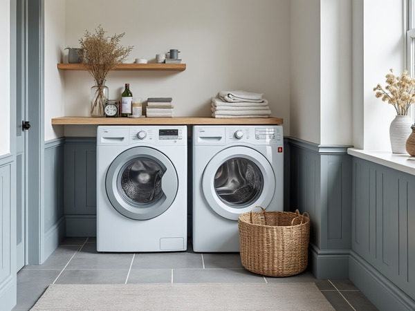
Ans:
<svg viewBox="0 0 415 311"><path fill-rule="evenodd" d="M353 158L350 279L379 307L415 310L414 220L415 176Z"/></svg>

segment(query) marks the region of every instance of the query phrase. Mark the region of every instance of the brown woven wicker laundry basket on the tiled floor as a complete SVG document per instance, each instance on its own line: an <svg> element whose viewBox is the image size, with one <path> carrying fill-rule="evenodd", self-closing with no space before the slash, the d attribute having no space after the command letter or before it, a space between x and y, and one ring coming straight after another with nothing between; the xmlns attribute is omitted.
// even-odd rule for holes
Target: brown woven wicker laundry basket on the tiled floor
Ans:
<svg viewBox="0 0 415 311"><path fill-rule="evenodd" d="M241 261L250 272L291 276L306 270L310 218L299 211L254 211L239 215Z"/></svg>

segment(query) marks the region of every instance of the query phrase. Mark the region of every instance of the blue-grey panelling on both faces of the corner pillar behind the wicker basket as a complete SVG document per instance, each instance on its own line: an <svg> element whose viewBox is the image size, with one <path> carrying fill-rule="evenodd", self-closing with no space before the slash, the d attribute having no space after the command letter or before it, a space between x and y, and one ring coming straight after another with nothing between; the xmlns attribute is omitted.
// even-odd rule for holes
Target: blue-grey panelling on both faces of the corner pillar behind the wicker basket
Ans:
<svg viewBox="0 0 415 311"><path fill-rule="evenodd" d="M284 210L311 218L310 264L319 279L347 279L351 248L350 146L321 146L287 138L289 200ZM286 176L286 175L285 175ZM287 206L288 205L288 206Z"/></svg>

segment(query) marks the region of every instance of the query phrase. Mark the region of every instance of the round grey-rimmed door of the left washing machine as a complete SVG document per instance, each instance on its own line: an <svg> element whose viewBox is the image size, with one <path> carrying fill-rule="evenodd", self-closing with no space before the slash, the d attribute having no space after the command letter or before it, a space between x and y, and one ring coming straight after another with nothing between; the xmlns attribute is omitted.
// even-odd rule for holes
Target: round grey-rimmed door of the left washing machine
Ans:
<svg viewBox="0 0 415 311"><path fill-rule="evenodd" d="M164 153L133 147L117 156L105 179L107 196L120 214L147 220L163 214L178 190L178 176Z"/></svg>

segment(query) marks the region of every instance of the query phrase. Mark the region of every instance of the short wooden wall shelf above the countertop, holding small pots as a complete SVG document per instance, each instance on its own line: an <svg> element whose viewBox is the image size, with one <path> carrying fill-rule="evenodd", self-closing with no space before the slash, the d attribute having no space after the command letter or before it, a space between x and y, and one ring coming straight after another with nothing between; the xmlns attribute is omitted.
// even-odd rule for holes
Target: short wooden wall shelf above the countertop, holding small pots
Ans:
<svg viewBox="0 0 415 311"><path fill-rule="evenodd" d="M84 64L57 64L59 70L86 70ZM120 64L113 70L176 70L183 71L186 64Z"/></svg>

